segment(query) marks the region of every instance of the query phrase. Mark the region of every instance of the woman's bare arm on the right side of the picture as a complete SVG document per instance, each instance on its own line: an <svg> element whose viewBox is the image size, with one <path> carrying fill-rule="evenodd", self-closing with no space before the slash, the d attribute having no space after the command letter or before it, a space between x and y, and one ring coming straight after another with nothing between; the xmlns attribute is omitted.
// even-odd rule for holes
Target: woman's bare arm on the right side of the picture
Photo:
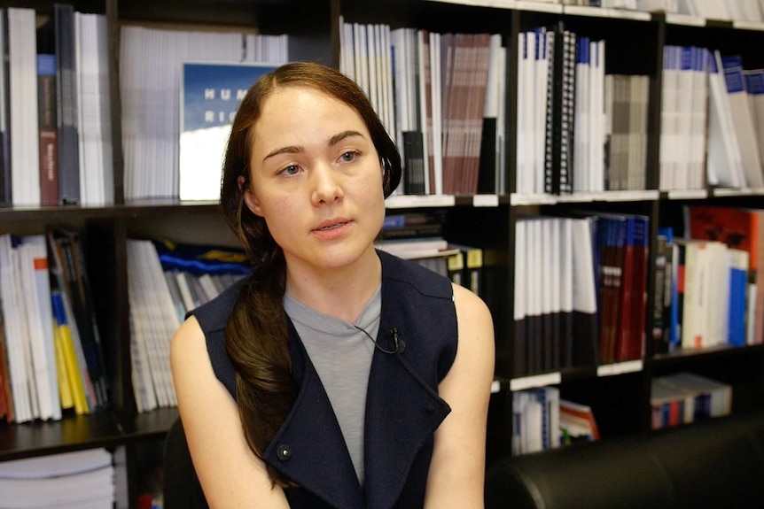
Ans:
<svg viewBox="0 0 764 509"><path fill-rule="evenodd" d="M438 391L451 413L435 431L426 508L483 507L488 399L494 378L494 326L487 306L454 285L459 342Z"/></svg>

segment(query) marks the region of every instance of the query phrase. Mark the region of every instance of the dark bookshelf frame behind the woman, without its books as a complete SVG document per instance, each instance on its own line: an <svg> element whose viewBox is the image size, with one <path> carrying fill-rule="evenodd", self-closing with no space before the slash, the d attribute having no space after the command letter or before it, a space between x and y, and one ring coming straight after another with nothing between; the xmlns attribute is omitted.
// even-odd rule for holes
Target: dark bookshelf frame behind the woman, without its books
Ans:
<svg viewBox="0 0 764 509"><path fill-rule="evenodd" d="M33 424L0 423L0 461L94 447L122 450L122 472L128 486L118 506L136 506L138 446L160 443L176 418L174 409L136 413L130 374L130 327L127 240L134 235L165 235L179 242L235 243L222 224L215 204L181 203L173 198L126 200L123 187L125 152L120 95L120 30L127 26L200 27L290 36L290 59L308 59L339 66L339 17L349 23L385 23L391 28L416 27L439 33L492 33L503 36L506 66L506 166L508 189L475 196L392 197L395 212L442 209L444 236L452 243L481 248L483 297L490 306L496 331L496 377L499 389L491 397L488 421L488 461L511 452L513 391L554 385L566 398L591 405L604 439L650 429L651 378L684 369L706 374L733 386L733 412L764 408L764 348L715 348L653 355L646 342L640 362L606 366L567 366L551 372L514 373L516 308L514 256L518 219L538 214L559 215L585 208L598 212L638 213L650 219L647 303L653 302L653 248L659 226L681 228L682 206L761 204L764 189L659 190L662 49L667 44L698 45L743 55L746 66L764 66L757 48L764 25L706 20L660 13L569 8L559 4L495 0L404 1L373 0L88 0L73 2L81 12L105 14L108 21L110 116L113 134L114 203L98 207L0 208L0 233L43 233L46 225L82 231L88 274L96 299L96 320L103 335L112 409L90 416L66 415L61 421ZM3 2L3 7L32 7L50 15L53 3ZM516 189L518 173L518 34L534 27L565 27L607 42L608 73L649 76L646 171L644 189L582 192L572 195L524 195ZM199 228L187 228L193 221ZM651 330L648 313L645 329Z"/></svg>

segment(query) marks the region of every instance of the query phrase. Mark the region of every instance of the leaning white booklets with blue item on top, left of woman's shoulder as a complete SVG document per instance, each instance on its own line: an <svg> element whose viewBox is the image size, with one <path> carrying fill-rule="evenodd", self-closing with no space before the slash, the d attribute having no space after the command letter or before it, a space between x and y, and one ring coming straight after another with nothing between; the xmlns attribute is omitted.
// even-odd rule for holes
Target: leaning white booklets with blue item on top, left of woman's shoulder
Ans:
<svg viewBox="0 0 764 509"><path fill-rule="evenodd" d="M177 405L170 341L186 312L249 273L243 253L168 241L128 241L132 380L138 412Z"/></svg>

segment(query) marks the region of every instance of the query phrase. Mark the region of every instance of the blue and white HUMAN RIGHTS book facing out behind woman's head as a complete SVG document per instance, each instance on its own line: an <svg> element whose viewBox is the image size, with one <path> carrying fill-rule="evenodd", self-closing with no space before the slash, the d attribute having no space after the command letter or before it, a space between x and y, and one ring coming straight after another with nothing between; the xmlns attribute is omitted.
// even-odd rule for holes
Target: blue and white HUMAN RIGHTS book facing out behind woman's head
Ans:
<svg viewBox="0 0 764 509"><path fill-rule="evenodd" d="M183 64L180 96L182 200L220 199L222 161L230 124L246 91L277 64Z"/></svg>

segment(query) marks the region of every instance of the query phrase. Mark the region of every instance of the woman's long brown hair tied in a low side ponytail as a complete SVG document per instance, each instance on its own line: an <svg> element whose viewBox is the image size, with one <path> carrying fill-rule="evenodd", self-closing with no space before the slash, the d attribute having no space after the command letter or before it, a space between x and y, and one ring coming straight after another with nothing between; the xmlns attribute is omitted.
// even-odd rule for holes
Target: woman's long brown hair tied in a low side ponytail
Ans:
<svg viewBox="0 0 764 509"><path fill-rule="evenodd" d="M307 62L281 66L256 81L239 105L223 163L221 206L253 263L253 274L228 320L225 346L236 368L236 398L246 440L260 458L284 423L297 386L292 378L283 304L284 251L270 235L265 220L246 207L243 192L250 185L253 127L260 119L262 105L275 90L290 86L322 91L355 110L369 129L384 167L385 197L401 181L401 156L369 99L354 81L331 67ZM244 177L242 186L239 177ZM292 485L267 467L273 482Z"/></svg>

